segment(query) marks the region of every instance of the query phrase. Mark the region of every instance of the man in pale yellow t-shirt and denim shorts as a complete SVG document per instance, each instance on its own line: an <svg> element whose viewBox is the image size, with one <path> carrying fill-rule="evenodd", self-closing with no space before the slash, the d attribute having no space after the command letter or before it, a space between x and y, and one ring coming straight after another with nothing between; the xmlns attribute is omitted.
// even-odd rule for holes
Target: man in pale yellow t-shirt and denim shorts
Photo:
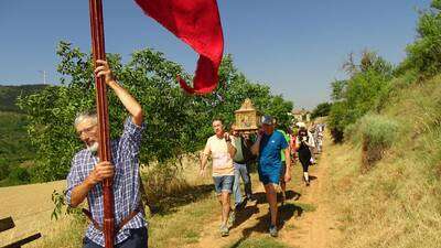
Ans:
<svg viewBox="0 0 441 248"><path fill-rule="evenodd" d="M224 131L224 125L220 119L213 121L214 136L209 137L204 152L202 153L200 175L205 175L205 169L208 155L213 159L213 181L216 194L222 206L222 224L220 235L228 236L228 219L229 225L234 223L234 213L230 213L230 194L234 183L234 165L233 158L236 154L235 144L228 132Z"/></svg>

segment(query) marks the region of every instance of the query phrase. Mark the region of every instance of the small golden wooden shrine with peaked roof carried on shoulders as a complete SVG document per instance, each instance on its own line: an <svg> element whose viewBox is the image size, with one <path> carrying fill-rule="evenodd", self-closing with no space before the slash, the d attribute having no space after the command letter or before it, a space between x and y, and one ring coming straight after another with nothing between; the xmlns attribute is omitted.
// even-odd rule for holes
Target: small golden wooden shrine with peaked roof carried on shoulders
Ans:
<svg viewBox="0 0 441 248"><path fill-rule="evenodd" d="M239 131L255 131L260 126L260 114L252 106L249 98L235 111L236 129Z"/></svg>

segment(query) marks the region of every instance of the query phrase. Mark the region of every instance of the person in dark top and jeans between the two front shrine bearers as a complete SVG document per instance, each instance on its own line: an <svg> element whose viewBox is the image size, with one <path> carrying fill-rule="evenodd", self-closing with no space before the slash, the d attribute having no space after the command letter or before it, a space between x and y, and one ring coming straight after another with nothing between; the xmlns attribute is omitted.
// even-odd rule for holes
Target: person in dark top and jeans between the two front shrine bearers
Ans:
<svg viewBox="0 0 441 248"><path fill-rule="evenodd" d="M233 164L235 169L235 181L233 184L233 192L235 195L235 211L240 209L247 203L252 201L251 191L251 179L249 176L249 163L252 160L251 154L251 141L243 137L236 129L236 126L232 126L233 142L236 148L236 154L233 158ZM240 177L244 181L244 190L246 198L243 201L240 191Z"/></svg>

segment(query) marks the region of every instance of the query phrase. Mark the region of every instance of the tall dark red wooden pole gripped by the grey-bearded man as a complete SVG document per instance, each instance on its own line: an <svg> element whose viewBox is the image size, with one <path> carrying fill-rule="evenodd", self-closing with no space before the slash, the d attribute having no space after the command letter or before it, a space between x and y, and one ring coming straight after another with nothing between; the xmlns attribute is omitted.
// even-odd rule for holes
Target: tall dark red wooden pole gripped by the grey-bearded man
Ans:
<svg viewBox="0 0 441 248"><path fill-rule="evenodd" d="M94 54L94 67L96 68L97 60L106 60L104 44L104 24L103 24L103 1L89 0L90 11L90 32L92 32L92 51ZM96 103L99 129L99 149L98 155L100 161L110 161L110 140L109 140L109 117L107 109L106 83L104 76L95 77L96 84ZM114 192L112 180L103 182L104 194L104 220L103 229L105 237L105 247L114 248L115 236L115 217L114 217Z"/></svg>

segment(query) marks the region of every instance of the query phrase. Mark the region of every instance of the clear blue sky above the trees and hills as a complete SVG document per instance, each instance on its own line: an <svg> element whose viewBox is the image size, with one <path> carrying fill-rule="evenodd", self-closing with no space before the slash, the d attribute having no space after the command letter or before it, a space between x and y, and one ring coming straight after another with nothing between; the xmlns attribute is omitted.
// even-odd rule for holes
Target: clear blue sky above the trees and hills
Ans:
<svg viewBox="0 0 441 248"><path fill-rule="evenodd" d="M416 37L430 0L218 0L225 53L254 82L297 108L329 100L330 82L351 52L368 47L392 63ZM104 0L106 52L127 61L146 46L193 73L197 55L146 17L132 0ZM0 84L58 82L61 40L90 50L88 1L0 0Z"/></svg>

